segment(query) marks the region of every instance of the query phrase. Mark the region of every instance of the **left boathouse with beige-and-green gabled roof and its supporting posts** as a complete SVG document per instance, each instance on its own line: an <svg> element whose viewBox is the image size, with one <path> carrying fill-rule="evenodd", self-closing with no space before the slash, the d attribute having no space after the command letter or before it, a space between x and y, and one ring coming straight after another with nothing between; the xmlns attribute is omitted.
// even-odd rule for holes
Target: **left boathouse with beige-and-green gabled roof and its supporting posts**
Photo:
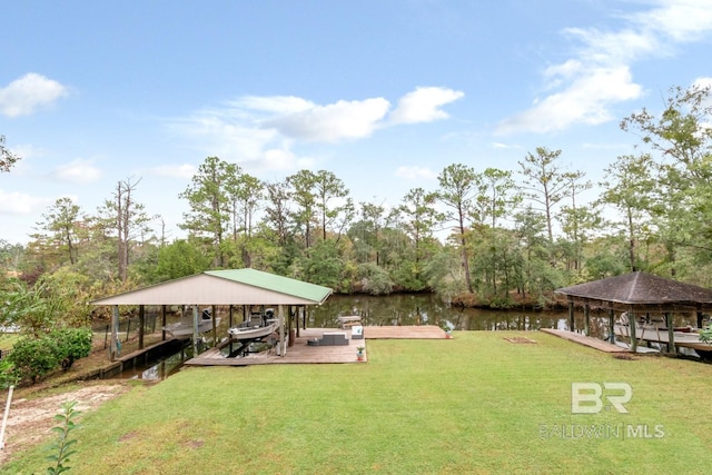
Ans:
<svg viewBox="0 0 712 475"><path fill-rule="evenodd" d="M144 315L145 306L160 306L164 315L166 308L171 305L194 307L194 330L192 342L197 354L198 325L200 306L210 306L212 315L212 335L216 335L216 311L219 306L230 307L230 325L233 324L233 308L241 306L271 306L277 308L279 321L279 339L281 348L286 347L287 333L285 328L287 311L296 307L297 316L305 316L305 308L308 305L320 305L333 290L315 284L305 283L261 270L228 269L207 270L179 279L168 280L149 287L117 294L110 297L92 300L96 306L112 306L111 314L111 343L109 357L113 362L119 356L118 328L119 328L119 306L130 305L139 307L139 317ZM139 348L142 348L142 321L141 333L139 333ZM298 328L298 325L297 325ZM283 352L284 354L284 352Z"/></svg>

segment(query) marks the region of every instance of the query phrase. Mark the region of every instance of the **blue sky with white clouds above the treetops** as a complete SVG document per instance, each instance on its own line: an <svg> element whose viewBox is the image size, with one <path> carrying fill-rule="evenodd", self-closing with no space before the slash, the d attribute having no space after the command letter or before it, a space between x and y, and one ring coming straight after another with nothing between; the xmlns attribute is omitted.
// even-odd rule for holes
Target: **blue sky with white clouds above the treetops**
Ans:
<svg viewBox="0 0 712 475"><path fill-rule="evenodd" d="M168 237L207 157L301 169L397 206L451 164L517 172L537 147L594 184L671 87L710 83L712 0L3 2L0 240L118 181ZM595 198L595 189L590 191ZM156 222L158 228L158 222Z"/></svg>

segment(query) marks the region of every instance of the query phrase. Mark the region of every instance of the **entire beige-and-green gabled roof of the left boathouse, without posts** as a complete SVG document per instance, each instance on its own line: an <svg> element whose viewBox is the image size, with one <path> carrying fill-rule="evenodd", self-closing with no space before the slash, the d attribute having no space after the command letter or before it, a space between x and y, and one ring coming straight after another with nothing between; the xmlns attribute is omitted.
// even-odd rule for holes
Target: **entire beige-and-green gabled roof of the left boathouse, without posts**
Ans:
<svg viewBox="0 0 712 475"><path fill-rule="evenodd" d="M328 287L256 269L211 270L92 300L91 305L318 305Z"/></svg>

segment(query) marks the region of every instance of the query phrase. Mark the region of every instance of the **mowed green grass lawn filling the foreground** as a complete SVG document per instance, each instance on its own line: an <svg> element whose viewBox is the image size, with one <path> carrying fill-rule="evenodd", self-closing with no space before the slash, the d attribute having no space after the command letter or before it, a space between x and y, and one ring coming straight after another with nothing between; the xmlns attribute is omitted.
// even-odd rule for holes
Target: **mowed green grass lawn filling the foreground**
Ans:
<svg viewBox="0 0 712 475"><path fill-rule="evenodd" d="M367 364L188 368L83 415L69 473L712 473L712 365L514 335L369 340ZM572 414L575 382L630 384L629 413ZM44 472L48 445L0 473Z"/></svg>

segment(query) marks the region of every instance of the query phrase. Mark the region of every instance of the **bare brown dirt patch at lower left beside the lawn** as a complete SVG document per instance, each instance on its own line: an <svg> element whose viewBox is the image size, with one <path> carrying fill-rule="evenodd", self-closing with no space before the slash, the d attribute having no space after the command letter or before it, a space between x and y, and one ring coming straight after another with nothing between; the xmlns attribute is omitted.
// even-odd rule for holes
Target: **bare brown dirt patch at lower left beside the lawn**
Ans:
<svg viewBox="0 0 712 475"><path fill-rule="evenodd" d="M87 384L79 389L44 397L20 398L13 396L4 432L4 447L0 449L0 465L9 461L13 453L26 451L38 443L49 443L50 429L57 425L55 416L61 410L62 403L77 400L76 409L81 410L83 415L127 390L129 390L129 386L126 384L103 383ZM2 395L1 404L0 410L4 414L7 393ZM78 422L81 423L81 415Z"/></svg>

